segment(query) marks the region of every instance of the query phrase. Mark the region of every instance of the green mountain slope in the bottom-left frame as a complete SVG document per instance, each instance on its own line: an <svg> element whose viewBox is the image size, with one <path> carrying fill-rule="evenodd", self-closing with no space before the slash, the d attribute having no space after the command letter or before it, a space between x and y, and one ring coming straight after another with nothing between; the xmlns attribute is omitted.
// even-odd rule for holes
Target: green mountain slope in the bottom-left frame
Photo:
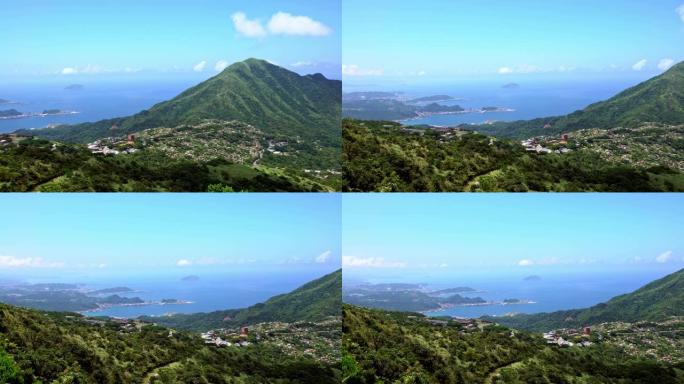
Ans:
<svg viewBox="0 0 684 384"><path fill-rule="evenodd" d="M337 270L290 293L274 296L245 309L143 319L177 329L206 331L268 321L320 321L329 316L340 316L341 306L342 270Z"/></svg>

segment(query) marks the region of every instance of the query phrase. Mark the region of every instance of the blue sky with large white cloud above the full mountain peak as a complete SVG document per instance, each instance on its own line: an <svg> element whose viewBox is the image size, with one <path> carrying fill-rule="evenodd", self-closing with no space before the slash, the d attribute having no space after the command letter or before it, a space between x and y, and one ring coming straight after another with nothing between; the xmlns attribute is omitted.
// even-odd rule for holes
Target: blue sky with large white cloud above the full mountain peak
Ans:
<svg viewBox="0 0 684 384"><path fill-rule="evenodd" d="M10 0L0 77L206 78L266 59L340 78L340 1Z"/></svg>

